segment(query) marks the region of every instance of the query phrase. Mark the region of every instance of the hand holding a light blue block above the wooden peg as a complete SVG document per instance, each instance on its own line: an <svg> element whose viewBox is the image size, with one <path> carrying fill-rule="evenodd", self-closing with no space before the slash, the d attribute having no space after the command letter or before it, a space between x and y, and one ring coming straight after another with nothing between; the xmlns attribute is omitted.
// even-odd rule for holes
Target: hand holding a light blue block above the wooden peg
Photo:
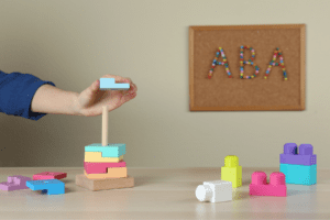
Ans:
<svg viewBox="0 0 330 220"><path fill-rule="evenodd" d="M96 117L102 113L103 106L108 106L109 111L112 111L136 97L138 88L130 78L113 75L106 75L101 78L114 78L116 82L130 84L130 89L100 90L100 80L98 79L77 96L74 109L78 114Z"/></svg>

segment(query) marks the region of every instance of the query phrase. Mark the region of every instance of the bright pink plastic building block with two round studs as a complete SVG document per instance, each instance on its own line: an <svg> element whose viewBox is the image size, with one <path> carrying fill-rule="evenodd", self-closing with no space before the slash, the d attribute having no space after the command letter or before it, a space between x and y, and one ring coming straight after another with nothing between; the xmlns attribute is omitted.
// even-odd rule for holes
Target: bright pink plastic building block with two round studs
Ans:
<svg viewBox="0 0 330 220"><path fill-rule="evenodd" d="M286 197L285 175L274 172L267 184L267 175L264 172L254 172L250 184L250 195Z"/></svg>

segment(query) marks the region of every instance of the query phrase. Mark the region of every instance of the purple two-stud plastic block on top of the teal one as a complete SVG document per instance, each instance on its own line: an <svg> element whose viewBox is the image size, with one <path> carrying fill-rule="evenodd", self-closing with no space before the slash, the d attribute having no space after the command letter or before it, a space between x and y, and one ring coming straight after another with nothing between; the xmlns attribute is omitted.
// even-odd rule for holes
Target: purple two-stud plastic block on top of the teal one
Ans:
<svg viewBox="0 0 330 220"><path fill-rule="evenodd" d="M301 144L298 154L297 144L286 143L284 153L279 155L279 163L311 166L317 164L317 155L312 154L311 144Z"/></svg>

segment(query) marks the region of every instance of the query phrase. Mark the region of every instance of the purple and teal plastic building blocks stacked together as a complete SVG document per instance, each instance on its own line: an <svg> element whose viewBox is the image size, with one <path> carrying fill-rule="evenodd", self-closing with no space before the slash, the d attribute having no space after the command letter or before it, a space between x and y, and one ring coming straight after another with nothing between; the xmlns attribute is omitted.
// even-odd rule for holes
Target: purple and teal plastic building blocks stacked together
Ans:
<svg viewBox="0 0 330 220"><path fill-rule="evenodd" d="M285 174L287 184L314 185L317 183L317 155L312 153L311 144L301 144L299 154L297 144L284 145L279 155L279 170Z"/></svg>

